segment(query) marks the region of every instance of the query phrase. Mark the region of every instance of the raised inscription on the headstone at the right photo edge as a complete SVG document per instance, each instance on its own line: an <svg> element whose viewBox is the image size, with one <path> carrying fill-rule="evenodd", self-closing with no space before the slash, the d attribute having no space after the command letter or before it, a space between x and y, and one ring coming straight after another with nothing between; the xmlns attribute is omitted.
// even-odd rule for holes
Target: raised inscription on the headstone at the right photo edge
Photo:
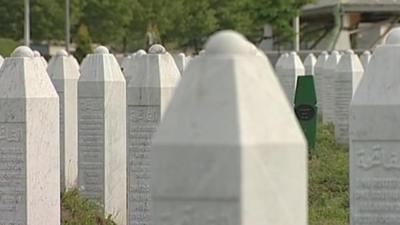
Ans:
<svg viewBox="0 0 400 225"><path fill-rule="evenodd" d="M398 224L400 221L400 153L398 142L354 141L353 225ZM372 177L371 174L376 174Z"/></svg>

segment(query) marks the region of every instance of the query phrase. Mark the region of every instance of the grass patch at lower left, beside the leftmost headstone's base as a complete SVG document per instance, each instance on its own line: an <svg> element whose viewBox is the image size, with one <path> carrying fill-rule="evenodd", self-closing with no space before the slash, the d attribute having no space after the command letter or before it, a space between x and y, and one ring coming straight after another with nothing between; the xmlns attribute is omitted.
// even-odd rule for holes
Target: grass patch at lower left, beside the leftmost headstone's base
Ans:
<svg viewBox="0 0 400 225"><path fill-rule="evenodd" d="M116 225L111 216L104 218L100 207L83 199L77 190L71 190L61 196L62 225Z"/></svg>

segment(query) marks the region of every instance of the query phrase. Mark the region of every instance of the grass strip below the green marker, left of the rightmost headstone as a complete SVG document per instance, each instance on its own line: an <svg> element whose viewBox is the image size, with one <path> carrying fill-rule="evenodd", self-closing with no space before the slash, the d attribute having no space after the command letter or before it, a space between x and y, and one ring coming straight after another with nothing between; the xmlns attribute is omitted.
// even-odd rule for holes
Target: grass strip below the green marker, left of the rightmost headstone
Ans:
<svg viewBox="0 0 400 225"><path fill-rule="evenodd" d="M349 224L348 158L348 147L335 144L333 126L320 126L309 159L310 225Z"/></svg>

